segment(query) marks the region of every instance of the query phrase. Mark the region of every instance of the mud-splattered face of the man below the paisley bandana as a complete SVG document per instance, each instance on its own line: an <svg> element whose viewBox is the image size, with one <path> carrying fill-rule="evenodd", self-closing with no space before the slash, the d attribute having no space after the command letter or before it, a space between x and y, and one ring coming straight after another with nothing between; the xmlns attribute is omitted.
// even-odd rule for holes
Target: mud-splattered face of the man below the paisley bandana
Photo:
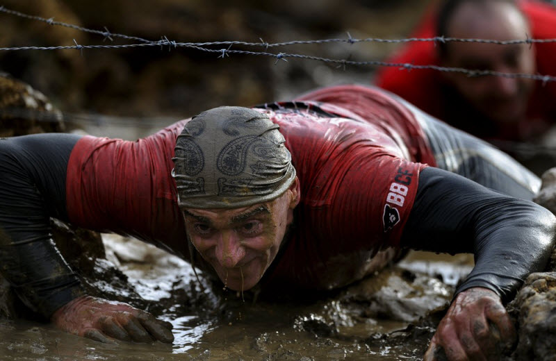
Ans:
<svg viewBox="0 0 556 361"><path fill-rule="evenodd" d="M226 287L250 289L278 253L299 202L297 178L274 201L234 209L183 210L186 230Z"/></svg>

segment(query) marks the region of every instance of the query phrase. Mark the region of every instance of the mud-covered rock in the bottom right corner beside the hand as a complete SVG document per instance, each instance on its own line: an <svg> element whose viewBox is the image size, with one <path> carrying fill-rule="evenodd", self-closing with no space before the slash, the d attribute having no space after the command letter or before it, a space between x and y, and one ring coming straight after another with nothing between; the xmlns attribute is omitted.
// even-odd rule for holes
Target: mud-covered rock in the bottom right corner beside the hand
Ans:
<svg viewBox="0 0 556 361"><path fill-rule="evenodd" d="M555 360L556 272L531 274L509 307L518 317L515 360Z"/></svg>

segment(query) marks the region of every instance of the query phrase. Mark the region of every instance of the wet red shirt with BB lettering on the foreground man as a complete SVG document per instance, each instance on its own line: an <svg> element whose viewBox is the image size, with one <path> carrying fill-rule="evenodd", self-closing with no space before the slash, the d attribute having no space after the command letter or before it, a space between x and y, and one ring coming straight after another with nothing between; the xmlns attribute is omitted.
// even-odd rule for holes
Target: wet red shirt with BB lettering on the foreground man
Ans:
<svg viewBox="0 0 556 361"><path fill-rule="evenodd" d="M379 94L377 99L386 99ZM328 115L312 111L316 104L305 103L304 109L299 105L256 108L279 124L301 184L301 202L295 210L299 227L290 235L284 251L287 262L275 268L275 278L294 287L334 288L364 276L361 270L379 249L399 246L420 170L426 167L416 162L418 154L428 149L421 137L416 149L409 151L405 144L411 144L413 137L400 124L409 126L411 118L396 115L395 107L392 114L382 110L384 117L370 117L380 119L373 124L332 104L322 105ZM183 124L138 142L79 140L67 172L72 223L187 253L170 176L173 146ZM344 271L337 272L332 265Z"/></svg>

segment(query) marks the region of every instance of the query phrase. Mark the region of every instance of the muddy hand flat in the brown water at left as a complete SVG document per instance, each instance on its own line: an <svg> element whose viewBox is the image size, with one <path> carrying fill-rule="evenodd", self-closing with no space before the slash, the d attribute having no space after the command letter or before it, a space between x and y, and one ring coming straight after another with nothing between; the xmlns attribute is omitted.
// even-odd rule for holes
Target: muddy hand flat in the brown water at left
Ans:
<svg viewBox="0 0 556 361"><path fill-rule="evenodd" d="M56 310L51 321L69 333L113 343L115 339L134 342L171 343L172 324L126 303L81 296Z"/></svg>

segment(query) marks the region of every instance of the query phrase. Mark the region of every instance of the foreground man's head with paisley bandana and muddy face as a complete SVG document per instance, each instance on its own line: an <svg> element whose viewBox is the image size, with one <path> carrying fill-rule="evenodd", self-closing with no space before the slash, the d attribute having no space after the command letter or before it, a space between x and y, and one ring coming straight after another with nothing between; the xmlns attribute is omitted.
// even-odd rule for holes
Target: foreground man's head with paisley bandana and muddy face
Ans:
<svg viewBox="0 0 556 361"><path fill-rule="evenodd" d="M300 201L278 128L256 110L220 107L193 117L176 142L172 176L188 237L231 289L259 282Z"/></svg>

